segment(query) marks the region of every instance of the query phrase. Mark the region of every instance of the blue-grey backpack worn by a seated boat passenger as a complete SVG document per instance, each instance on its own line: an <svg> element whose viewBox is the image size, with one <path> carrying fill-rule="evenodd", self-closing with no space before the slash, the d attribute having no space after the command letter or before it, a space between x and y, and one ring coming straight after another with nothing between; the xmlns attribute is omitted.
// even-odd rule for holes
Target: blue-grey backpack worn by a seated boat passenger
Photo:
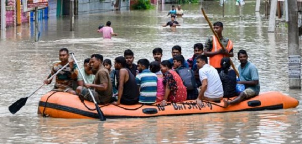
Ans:
<svg viewBox="0 0 302 144"><path fill-rule="evenodd" d="M183 84L186 86L187 90L194 90L197 88L193 70L191 70L190 68L180 68L176 69L176 73L182 79Z"/></svg>

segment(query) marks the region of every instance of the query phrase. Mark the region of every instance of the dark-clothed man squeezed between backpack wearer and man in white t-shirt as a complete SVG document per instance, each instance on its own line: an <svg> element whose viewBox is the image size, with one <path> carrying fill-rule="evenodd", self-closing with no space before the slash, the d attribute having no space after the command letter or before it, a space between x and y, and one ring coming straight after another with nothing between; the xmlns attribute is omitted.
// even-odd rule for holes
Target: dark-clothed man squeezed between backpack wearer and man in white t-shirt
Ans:
<svg viewBox="0 0 302 144"><path fill-rule="evenodd" d="M187 59L187 62L189 64L189 67L194 71L194 77L196 80L197 87L201 86L201 82L199 81L199 74L198 74L198 68L196 65L196 57L203 53L203 44L202 43L195 43L193 46L194 54L191 58Z"/></svg>

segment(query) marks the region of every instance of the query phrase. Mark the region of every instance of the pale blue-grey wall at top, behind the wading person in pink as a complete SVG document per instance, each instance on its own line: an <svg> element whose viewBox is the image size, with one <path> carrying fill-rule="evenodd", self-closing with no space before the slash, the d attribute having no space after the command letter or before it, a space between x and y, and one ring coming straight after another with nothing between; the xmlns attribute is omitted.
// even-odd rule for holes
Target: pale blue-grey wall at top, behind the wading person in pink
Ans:
<svg viewBox="0 0 302 144"><path fill-rule="evenodd" d="M78 14L99 13L106 11L114 11L116 0L79 0ZM121 10L129 9L129 0L120 0Z"/></svg>

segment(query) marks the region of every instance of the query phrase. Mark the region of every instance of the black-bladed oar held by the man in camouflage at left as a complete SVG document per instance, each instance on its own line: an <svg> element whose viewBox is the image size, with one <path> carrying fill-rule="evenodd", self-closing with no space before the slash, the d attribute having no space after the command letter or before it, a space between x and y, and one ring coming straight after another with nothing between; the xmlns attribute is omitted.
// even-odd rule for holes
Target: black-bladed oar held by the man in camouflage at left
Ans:
<svg viewBox="0 0 302 144"><path fill-rule="evenodd" d="M59 69L54 75L52 75L48 81L52 80L53 77L55 77L57 74L60 73L61 70L63 70L66 66L68 66L69 63L65 64L61 69ZM39 89L41 89L45 84L43 83L39 88L37 88L34 92L32 92L31 94L29 94L27 97L25 98L21 98L18 101L16 101L15 103L13 103L11 106L9 106L9 110L12 114L15 114L17 111L19 111L25 104L26 101L29 97L31 97L34 93L36 93Z"/></svg>

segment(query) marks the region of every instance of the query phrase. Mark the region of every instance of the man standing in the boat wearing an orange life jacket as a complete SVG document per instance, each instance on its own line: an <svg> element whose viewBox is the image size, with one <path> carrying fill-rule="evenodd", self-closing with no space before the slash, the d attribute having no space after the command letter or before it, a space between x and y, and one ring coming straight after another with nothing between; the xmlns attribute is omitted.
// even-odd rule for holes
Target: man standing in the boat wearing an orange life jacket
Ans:
<svg viewBox="0 0 302 144"><path fill-rule="evenodd" d="M209 64L215 67L218 71L218 74L221 71L220 61L226 57L233 57L233 42L226 37L222 36L223 24L221 22L215 22L213 24L213 29L217 33L220 42L225 47L223 50L220 46L218 39L215 36L209 37L204 44L204 55L210 57Z"/></svg>

